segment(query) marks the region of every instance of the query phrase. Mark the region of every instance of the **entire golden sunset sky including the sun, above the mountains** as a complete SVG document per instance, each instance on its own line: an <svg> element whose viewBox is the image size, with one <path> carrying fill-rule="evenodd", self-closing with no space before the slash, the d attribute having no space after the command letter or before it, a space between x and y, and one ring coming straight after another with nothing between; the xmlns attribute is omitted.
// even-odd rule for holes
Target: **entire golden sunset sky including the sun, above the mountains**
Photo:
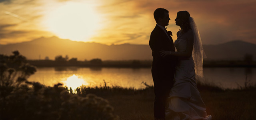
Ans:
<svg viewBox="0 0 256 120"><path fill-rule="evenodd" d="M195 19L203 44L243 40L256 44L256 0L1 0L0 44L58 36L102 44L148 44L156 8Z"/></svg>

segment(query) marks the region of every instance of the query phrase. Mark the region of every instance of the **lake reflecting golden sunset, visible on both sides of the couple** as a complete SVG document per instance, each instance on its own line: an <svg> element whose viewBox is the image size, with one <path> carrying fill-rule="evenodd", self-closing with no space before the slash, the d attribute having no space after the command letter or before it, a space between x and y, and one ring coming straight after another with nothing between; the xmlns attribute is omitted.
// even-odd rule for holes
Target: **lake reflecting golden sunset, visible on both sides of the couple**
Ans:
<svg viewBox="0 0 256 120"><path fill-rule="evenodd" d="M222 88L238 88L244 86L246 80L250 84L256 83L256 68L204 68L204 80ZM125 88L145 88L142 82L153 85L151 68L37 68L37 72L28 78L53 86L61 82L65 86L76 88L85 86L121 86Z"/></svg>

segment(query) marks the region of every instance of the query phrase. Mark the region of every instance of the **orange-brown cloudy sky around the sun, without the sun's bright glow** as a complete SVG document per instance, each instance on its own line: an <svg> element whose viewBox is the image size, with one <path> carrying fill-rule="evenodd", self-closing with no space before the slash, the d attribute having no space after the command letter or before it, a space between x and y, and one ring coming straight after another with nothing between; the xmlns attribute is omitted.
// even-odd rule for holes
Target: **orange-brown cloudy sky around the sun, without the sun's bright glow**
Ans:
<svg viewBox="0 0 256 120"><path fill-rule="evenodd" d="M21 40L18 37L24 38L23 34L28 40L31 34L50 34L40 24L44 20L42 18L58 6L67 4L67 1L83 2L1 0L1 35L6 40L15 39L11 35ZM180 29L175 25L176 13L187 10L196 21L203 44L220 44L238 39L256 44L255 0L96 0L93 4L97 6L103 25L89 41L104 44L148 44L150 32L156 24L153 12L156 8L166 8L171 18L167 29L174 33L174 40L175 33ZM3 10L12 14L6 14Z"/></svg>

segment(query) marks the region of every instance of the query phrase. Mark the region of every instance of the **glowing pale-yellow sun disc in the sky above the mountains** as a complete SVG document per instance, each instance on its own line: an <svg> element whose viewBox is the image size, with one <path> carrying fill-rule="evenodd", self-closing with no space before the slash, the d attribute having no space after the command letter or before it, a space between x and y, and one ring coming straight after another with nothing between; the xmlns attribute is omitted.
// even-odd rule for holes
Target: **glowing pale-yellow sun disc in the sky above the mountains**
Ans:
<svg viewBox="0 0 256 120"><path fill-rule="evenodd" d="M63 39L90 41L100 26L94 8L90 4L67 2L46 15L46 28Z"/></svg>

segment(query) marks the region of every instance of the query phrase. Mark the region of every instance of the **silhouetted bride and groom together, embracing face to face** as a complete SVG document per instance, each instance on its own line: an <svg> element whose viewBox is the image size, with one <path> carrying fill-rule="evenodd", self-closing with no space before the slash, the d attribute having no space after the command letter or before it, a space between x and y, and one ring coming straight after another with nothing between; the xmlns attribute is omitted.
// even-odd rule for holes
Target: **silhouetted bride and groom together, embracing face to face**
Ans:
<svg viewBox="0 0 256 120"><path fill-rule="evenodd" d="M168 10L154 11L156 27L151 32L152 77L154 80L155 120L210 120L206 107L196 87L196 76L203 77L202 62L205 57L200 34L194 19L187 11L177 13L180 26L177 40L166 30ZM175 48L177 52L175 52Z"/></svg>

